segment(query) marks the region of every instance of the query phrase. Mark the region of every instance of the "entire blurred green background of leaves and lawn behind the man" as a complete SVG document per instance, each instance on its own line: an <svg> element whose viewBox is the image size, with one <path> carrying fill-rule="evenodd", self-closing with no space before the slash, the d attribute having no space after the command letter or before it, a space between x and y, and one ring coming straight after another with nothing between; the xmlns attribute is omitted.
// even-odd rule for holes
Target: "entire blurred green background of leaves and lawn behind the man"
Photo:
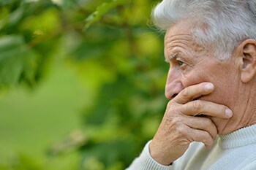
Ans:
<svg viewBox="0 0 256 170"><path fill-rule="evenodd" d="M121 170L165 112L153 0L0 1L0 170Z"/></svg>

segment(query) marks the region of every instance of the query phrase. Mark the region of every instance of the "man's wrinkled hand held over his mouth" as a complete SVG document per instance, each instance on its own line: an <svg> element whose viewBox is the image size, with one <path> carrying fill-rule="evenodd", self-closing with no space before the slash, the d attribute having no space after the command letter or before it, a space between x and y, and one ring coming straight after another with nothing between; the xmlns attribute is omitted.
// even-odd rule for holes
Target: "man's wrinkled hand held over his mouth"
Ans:
<svg viewBox="0 0 256 170"><path fill-rule="evenodd" d="M194 100L213 91L212 83L202 82L181 90L169 101L162 123L149 146L155 161L170 165L184 154L191 142L203 142L206 147L214 144L217 127L203 115L227 119L232 116L232 111L211 101Z"/></svg>

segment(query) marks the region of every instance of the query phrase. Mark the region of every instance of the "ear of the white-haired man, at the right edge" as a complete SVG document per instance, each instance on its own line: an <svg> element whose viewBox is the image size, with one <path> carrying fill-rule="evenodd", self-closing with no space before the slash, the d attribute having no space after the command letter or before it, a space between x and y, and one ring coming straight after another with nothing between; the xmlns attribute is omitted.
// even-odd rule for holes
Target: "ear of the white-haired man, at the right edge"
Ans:
<svg viewBox="0 0 256 170"><path fill-rule="evenodd" d="M241 81L249 82L256 75L256 40L246 39L238 46L241 56Z"/></svg>

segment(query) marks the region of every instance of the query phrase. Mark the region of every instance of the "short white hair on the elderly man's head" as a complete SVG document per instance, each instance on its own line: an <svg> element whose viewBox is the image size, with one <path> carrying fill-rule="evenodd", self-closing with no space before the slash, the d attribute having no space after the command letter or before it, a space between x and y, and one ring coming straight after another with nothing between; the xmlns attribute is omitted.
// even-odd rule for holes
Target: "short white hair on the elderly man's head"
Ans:
<svg viewBox="0 0 256 170"><path fill-rule="evenodd" d="M163 0L152 12L162 30L184 18L196 22L195 42L222 60L245 39L256 39L256 0Z"/></svg>

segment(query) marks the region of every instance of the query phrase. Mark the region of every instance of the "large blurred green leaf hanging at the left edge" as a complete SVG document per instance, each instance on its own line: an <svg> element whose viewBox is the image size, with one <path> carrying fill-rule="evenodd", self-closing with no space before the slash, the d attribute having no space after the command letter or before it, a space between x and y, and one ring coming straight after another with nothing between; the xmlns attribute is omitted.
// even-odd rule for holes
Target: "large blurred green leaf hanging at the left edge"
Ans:
<svg viewBox="0 0 256 170"><path fill-rule="evenodd" d="M38 56L23 42L22 36L0 37L0 86L34 80Z"/></svg>

